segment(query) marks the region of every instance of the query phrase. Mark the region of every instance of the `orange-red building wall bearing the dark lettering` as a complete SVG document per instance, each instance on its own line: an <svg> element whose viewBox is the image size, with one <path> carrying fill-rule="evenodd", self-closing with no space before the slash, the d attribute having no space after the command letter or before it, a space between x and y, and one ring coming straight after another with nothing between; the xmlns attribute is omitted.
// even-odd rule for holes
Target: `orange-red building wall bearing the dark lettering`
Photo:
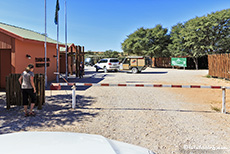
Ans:
<svg viewBox="0 0 230 154"><path fill-rule="evenodd" d="M30 55L31 59L28 59L26 55ZM47 44L47 58L50 59L47 63L49 63L49 67L47 67L47 79L48 81L55 80L56 75L54 72L57 72L56 66L56 45L55 44ZM44 58L45 50L44 43L26 40L20 41L15 40L15 57L12 59L15 61L15 73L22 73L28 64L33 64L35 66L34 73L42 73L44 74L45 67L37 67L36 64L44 64L44 62L36 62L35 58Z"/></svg>

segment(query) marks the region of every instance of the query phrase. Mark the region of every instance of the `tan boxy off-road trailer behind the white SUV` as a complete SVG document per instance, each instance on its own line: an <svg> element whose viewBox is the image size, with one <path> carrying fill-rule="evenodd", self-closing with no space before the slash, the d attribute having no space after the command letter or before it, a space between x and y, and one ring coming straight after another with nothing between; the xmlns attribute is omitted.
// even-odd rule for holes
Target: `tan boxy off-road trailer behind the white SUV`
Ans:
<svg viewBox="0 0 230 154"><path fill-rule="evenodd" d="M128 56L121 64L121 70L132 70L132 73L140 73L149 65L149 57L145 56Z"/></svg>

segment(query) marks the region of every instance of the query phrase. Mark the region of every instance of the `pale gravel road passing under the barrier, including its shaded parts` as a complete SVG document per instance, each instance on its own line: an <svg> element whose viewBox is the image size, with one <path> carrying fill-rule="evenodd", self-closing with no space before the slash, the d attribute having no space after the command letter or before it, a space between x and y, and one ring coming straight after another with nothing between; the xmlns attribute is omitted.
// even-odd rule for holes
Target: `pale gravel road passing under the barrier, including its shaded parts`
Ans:
<svg viewBox="0 0 230 154"><path fill-rule="evenodd" d="M226 85L208 79L207 70L148 68L141 74L95 73L88 67L79 82L172 83ZM71 91L46 92L46 105L37 116L25 118L22 109L3 108L0 94L0 134L16 131L71 131L100 134L146 147L155 153L230 153L230 115L185 98L167 88L79 87L77 109ZM196 95L194 95L196 97ZM215 118L212 118L215 117Z"/></svg>

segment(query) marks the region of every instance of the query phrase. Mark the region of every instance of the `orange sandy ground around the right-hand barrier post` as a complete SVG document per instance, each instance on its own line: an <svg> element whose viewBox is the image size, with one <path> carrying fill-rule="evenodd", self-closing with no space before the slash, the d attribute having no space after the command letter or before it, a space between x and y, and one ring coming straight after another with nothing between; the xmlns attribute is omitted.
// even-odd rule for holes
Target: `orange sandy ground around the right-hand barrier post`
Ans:
<svg viewBox="0 0 230 154"><path fill-rule="evenodd" d="M213 86L228 86L230 87L230 81L217 78L207 78L206 76L199 76L204 78L205 84L203 85L213 85ZM188 81L187 84L190 84ZM222 109L222 90L220 89L167 89L171 93L183 96L178 97L178 100L191 102L195 104L194 109L202 111L204 106L208 106L210 110L221 113ZM230 89L226 90L226 112L230 114ZM214 120L217 124L223 125L223 127L230 127L230 119L226 118L224 114L204 114L203 116Z"/></svg>

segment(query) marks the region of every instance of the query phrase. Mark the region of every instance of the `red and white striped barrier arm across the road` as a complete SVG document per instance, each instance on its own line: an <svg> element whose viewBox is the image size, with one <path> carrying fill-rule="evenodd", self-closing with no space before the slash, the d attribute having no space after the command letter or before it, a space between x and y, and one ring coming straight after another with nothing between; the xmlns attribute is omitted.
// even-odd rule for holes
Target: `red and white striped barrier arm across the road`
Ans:
<svg viewBox="0 0 230 154"><path fill-rule="evenodd" d="M57 84L57 83L55 83ZM60 86L98 86L98 87L156 87L156 88L206 88L206 89L230 89L224 86L203 86L203 85L165 85L165 84L113 84L113 83L59 83Z"/></svg>

